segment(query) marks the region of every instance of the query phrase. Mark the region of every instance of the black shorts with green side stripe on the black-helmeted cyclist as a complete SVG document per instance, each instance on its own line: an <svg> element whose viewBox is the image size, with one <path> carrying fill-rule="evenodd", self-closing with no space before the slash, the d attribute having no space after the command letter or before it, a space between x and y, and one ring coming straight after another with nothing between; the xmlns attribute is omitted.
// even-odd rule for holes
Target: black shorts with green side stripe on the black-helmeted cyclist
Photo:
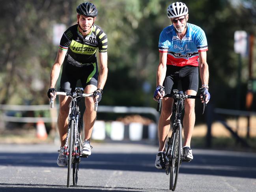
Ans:
<svg viewBox="0 0 256 192"><path fill-rule="evenodd" d="M97 62L90 65L77 67L68 62L63 63L62 76L60 79L60 91L71 93L75 91L77 81L80 80L82 88L88 85L98 84L98 66Z"/></svg>

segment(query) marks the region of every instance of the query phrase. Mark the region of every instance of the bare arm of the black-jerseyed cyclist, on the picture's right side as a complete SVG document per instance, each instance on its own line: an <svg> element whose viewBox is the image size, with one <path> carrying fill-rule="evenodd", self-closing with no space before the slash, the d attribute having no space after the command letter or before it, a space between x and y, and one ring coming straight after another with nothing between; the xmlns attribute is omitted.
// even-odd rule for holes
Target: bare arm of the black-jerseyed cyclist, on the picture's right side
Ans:
<svg viewBox="0 0 256 192"><path fill-rule="evenodd" d="M107 52L99 52L99 77L98 88L103 89L108 76L108 54Z"/></svg>

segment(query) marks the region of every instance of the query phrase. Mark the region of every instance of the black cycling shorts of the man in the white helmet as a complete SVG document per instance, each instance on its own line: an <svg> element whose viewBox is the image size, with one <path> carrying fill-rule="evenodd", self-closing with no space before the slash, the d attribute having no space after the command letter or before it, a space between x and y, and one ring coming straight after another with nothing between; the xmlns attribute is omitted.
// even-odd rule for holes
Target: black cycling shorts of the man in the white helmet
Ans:
<svg viewBox="0 0 256 192"><path fill-rule="evenodd" d="M163 84L165 94L171 94L173 89L182 90L183 92L192 89L197 92L198 79L198 67L167 65Z"/></svg>

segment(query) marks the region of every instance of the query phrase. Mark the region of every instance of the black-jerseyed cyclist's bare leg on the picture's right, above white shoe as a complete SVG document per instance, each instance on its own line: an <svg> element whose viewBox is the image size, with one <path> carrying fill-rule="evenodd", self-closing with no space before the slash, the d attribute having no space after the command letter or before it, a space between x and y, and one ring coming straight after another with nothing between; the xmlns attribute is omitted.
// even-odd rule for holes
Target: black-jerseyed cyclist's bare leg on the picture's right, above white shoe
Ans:
<svg viewBox="0 0 256 192"><path fill-rule="evenodd" d="M94 85L86 86L84 93L92 93L97 89ZM91 139L93 125L96 119L96 112L94 111L94 101L92 97L85 97L85 112L84 112L84 140Z"/></svg>

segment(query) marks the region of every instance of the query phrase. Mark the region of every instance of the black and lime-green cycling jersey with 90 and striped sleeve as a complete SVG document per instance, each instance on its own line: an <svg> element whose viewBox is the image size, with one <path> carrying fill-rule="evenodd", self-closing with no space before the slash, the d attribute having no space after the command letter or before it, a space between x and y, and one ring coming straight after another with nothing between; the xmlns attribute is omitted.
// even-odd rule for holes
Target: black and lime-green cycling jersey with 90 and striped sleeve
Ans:
<svg viewBox="0 0 256 192"><path fill-rule="evenodd" d="M78 30L78 24L69 27L60 40L60 49L67 50L65 60L75 65L95 63L96 51L107 52L107 34L96 24L91 32L83 37Z"/></svg>

